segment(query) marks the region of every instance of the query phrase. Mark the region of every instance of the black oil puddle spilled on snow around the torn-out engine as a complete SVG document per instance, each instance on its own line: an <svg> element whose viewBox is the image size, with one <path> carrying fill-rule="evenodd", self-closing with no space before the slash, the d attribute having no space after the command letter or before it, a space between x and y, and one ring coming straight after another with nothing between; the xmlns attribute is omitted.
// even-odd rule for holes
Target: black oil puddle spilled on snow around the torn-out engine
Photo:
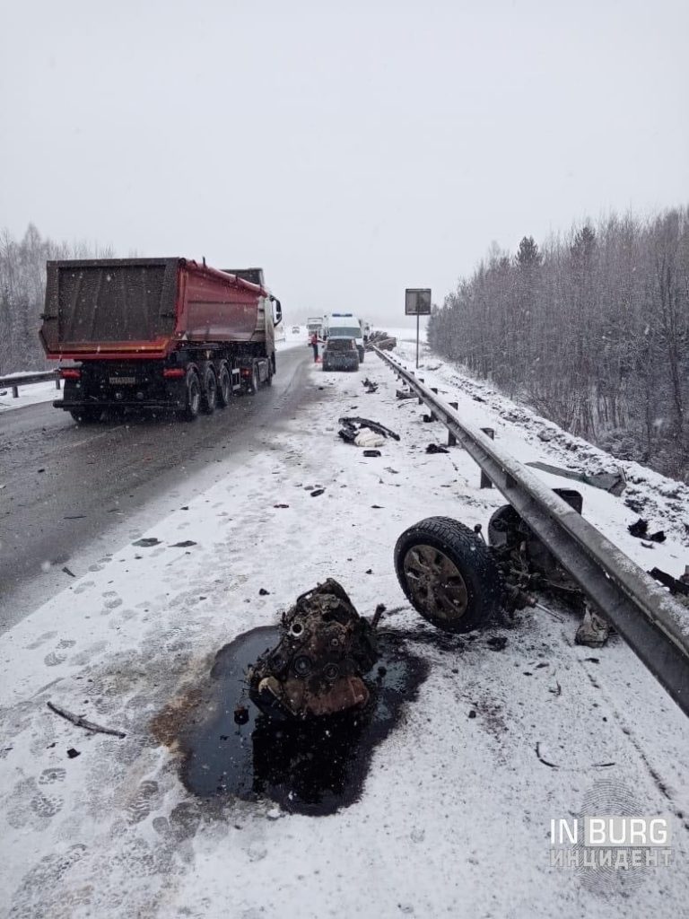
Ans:
<svg viewBox="0 0 689 919"><path fill-rule="evenodd" d="M245 696L250 664L278 641L277 626L240 635L218 652L209 685L191 704L176 705L175 746L182 752L181 777L198 798L276 801L285 811L321 816L354 803L361 794L371 755L417 697L428 665L401 637L380 632L380 659L367 676L366 709L308 722L269 720ZM235 724L238 704L249 720ZM174 721L175 719L173 719ZM159 716L154 731L166 743L172 722ZM162 725L167 726L167 737Z"/></svg>

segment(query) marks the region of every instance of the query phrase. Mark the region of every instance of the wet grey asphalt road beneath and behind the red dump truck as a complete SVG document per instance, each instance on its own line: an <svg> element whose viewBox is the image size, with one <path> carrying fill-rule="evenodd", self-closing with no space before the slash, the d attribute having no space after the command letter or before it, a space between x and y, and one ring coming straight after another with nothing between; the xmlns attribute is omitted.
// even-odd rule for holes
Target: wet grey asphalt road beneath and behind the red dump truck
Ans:
<svg viewBox="0 0 689 919"><path fill-rule="evenodd" d="M151 416L76 425L50 402L0 415L0 630L69 582L76 553L89 561L117 550L122 525L147 522L156 498L187 499L232 471L232 445L251 446L266 426L317 398L311 350L277 354L271 387L184 423ZM178 500L178 499L177 499Z"/></svg>

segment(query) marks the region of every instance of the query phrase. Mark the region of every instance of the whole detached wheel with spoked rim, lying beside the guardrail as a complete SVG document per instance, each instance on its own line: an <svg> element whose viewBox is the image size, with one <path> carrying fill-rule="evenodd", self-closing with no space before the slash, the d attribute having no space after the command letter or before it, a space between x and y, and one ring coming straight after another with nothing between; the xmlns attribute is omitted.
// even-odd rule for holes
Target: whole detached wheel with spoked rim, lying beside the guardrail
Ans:
<svg viewBox="0 0 689 919"><path fill-rule="evenodd" d="M480 629L501 604L503 579L491 550L451 517L427 517L405 530L395 572L412 606L444 631Z"/></svg>

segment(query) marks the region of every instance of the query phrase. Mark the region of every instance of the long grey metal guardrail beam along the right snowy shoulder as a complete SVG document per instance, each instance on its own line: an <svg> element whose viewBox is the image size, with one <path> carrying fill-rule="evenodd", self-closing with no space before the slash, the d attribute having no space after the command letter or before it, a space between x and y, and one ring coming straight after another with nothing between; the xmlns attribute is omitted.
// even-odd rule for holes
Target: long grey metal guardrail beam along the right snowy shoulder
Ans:
<svg viewBox="0 0 689 919"><path fill-rule="evenodd" d="M689 715L689 609L558 494L424 385L411 370L375 348L457 438L514 510L601 609L652 675Z"/></svg>

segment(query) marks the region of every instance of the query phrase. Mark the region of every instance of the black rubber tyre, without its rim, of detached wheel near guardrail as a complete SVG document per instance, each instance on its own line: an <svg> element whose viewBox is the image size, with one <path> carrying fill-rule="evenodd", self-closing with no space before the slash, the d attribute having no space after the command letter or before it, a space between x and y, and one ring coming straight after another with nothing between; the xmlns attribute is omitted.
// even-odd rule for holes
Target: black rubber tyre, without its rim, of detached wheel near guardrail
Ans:
<svg viewBox="0 0 689 919"><path fill-rule="evenodd" d="M414 604L407 584L403 562L414 546L431 546L447 556L456 566L467 587L466 612L454 622L435 617L428 609ZM452 517L427 517L406 529L395 545L395 572L404 594L412 606L432 625L444 631L468 632L491 623L498 613L503 596L503 578L489 547L480 537Z"/></svg>

